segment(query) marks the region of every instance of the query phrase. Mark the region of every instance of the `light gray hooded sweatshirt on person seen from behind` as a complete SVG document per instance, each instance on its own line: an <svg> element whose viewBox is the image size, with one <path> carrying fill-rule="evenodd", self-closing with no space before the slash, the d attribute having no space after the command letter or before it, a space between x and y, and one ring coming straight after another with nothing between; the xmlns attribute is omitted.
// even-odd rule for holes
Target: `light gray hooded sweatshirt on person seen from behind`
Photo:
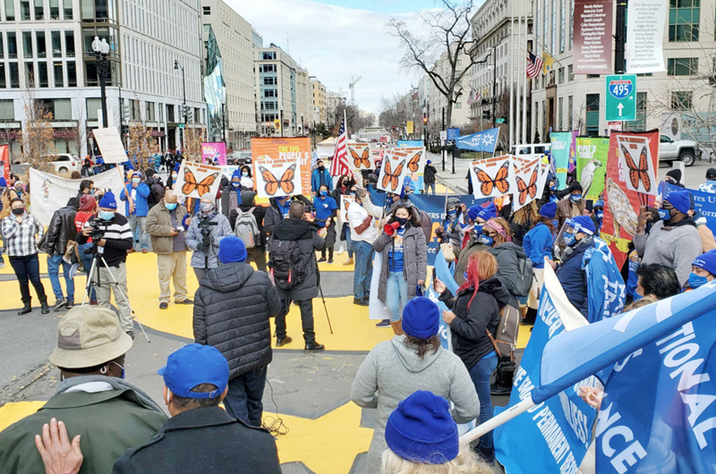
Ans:
<svg viewBox="0 0 716 474"><path fill-rule="evenodd" d="M398 402L418 390L429 390L455 403L453 418L457 423L467 423L480 414L473 381L455 354L439 348L436 352L428 351L421 359L405 345L405 335L379 343L358 368L351 389L356 405L378 409L366 473L380 472L380 459L388 448L385 431L390 413L396 410Z"/></svg>

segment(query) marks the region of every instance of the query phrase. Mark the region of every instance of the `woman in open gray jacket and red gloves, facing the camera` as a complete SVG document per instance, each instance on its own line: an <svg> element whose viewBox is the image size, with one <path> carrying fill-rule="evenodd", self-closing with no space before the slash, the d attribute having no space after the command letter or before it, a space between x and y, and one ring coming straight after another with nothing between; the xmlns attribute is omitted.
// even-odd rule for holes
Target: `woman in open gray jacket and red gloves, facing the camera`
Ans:
<svg viewBox="0 0 716 474"><path fill-rule="evenodd" d="M383 256L378 299L388 306L390 326L400 335L400 305L405 307L418 294L428 274L428 246L418 210L405 204L393 209L373 248Z"/></svg>

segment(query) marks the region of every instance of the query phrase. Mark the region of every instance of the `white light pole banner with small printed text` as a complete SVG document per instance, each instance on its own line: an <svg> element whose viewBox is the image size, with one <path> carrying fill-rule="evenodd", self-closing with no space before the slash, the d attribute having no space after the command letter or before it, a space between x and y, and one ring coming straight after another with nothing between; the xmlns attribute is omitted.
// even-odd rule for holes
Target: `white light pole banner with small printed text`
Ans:
<svg viewBox="0 0 716 474"><path fill-rule="evenodd" d="M664 23L669 3L664 0L631 0L626 21L626 72L644 74L666 71Z"/></svg>

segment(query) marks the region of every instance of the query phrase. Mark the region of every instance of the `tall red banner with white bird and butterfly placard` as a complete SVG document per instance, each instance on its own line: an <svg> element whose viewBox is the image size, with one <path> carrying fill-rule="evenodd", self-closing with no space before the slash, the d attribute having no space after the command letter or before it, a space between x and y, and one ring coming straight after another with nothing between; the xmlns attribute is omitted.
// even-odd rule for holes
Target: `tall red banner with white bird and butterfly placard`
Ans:
<svg viewBox="0 0 716 474"><path fill-rule="evenodd" d="M658 192L653 177L659 163L658 148L659 131L615 132L609 137L601 239L609 243L618 267L624 265L629 242L634 239L639 207L650 200L648 194Z"/></svg>

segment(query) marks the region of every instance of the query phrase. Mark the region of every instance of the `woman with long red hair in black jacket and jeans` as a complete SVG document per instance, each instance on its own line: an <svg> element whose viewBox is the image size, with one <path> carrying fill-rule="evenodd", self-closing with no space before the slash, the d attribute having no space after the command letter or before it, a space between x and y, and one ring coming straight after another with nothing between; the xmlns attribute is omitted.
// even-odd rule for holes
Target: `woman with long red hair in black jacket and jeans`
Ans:
<svg viewBox="0 0 716 474"><path fill-rule="evenodd" d="M485 251L474 252L465 270L465 283L453 295L446 285L435 280L433 287L440 300L451 310L443 311L450 326L453 351L464 363L480 398L480 423L492 418L490 376L498 365L498 356L490 341L499 326L499 312L509 300L509 293L495 277L498 261ZM477 448L485 461L495 460L492 432L480 438Z"/></svg>

